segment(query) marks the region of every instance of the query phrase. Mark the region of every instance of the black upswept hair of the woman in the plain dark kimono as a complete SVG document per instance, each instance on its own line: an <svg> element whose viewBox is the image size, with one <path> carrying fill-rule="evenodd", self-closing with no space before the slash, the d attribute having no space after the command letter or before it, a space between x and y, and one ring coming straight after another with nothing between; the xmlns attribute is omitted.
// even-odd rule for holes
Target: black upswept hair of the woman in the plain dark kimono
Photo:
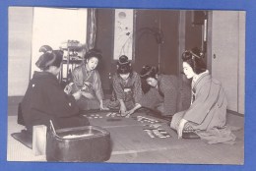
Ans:
<svg viewBox="0 0 256 171"><path fill-rule="evenodd" d="M45 45L43 45L43 46L45 46ZM43 50L41 52L43 52L43 54L39 57L39 59L35 63L35 65L40 70L46 71L46 70L49 69L50 66L55 66L57 68L60 67L61 62L62 62L62 57L63 57L63 51L62 50L52 50L51 49L50 51Z"/></svg>

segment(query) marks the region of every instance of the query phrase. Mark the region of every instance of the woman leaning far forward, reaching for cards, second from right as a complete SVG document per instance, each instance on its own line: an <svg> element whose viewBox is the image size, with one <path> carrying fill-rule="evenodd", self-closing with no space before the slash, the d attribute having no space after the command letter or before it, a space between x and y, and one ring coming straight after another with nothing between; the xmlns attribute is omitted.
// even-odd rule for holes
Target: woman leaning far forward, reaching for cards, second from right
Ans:
<svg viewBox="0 0 256 171"><path fill-rule="evenodd" d="M144 66L141 79L151 88L146 92L133 109L126 114L130 115L140 107L150 108L162 116L171 117L177 111L185 110L189 106L189 86L178 81L175 76L161 75L155 67Z"/></svg>

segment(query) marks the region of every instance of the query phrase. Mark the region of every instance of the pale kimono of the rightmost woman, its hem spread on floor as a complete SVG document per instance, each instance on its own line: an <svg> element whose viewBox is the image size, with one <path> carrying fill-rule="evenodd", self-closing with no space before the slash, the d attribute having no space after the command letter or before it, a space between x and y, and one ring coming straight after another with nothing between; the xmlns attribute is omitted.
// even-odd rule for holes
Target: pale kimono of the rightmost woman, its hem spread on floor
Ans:
<svg viewBox="0 0 256 171"><path fill-rule="evenodd" d="M170 127L177 130L183 118L195 133L210 143L234 141L235 137L225 127L227 101L222 84L208 72L192 83L191 105L188 110L176 113Z"/></svg>

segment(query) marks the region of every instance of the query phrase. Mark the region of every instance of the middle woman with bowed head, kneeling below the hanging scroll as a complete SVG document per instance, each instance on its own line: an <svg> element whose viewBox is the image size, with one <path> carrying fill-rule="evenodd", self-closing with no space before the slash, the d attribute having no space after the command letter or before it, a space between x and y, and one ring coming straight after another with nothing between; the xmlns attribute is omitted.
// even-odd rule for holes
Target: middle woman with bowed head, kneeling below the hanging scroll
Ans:
<svg viewBox="0 0 256 171"><path fill-rule="evenodd" d="M128 57L123 55L117 62L117 71L113 76L113 97L109 108L118 108L121 114L132 109L142 96L141 78L134 72Z"/></svg>

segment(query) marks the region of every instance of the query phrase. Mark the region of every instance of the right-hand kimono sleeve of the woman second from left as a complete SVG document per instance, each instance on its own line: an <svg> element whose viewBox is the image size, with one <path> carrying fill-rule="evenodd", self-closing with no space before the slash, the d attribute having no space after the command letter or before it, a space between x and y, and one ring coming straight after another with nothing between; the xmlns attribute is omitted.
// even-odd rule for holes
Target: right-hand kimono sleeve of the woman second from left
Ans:
<svg viewBox="0 0 256 171"><path fill-rule="evenodd" d="M98 100L101 100L104 98L100 77L97 71L95 71L95 75L94 75L93 89L95 90L96 98Z"/></svg>

